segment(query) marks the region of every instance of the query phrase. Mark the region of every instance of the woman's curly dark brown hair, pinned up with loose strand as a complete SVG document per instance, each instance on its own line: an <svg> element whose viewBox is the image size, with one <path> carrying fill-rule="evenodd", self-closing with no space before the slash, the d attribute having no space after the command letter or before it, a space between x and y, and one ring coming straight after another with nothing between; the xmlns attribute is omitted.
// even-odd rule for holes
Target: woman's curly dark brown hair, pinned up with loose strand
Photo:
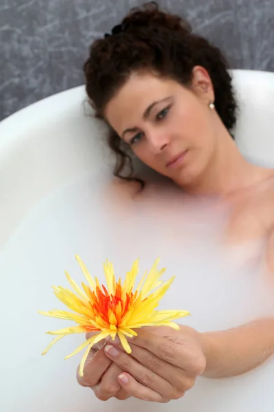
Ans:
<svg viewBox="0 0 274 412"><path fill-rule="evenodd" d="M192 33L181 17L160 10L155 1L132 9L112 34L95 41L84 64L86 93L95 114L104 118L105 106L125 84L133 71L151 71L190 87L192 69L204 67L211 78L215 107L227 130L236 123L237 104L227 60L205 38ZM126 180L134 177L132 157L123 141L110 128L110 148L116 152L114 175ZM129 174L123 174L129 165ZM144 185L143 181L140 181Z"/></svg>

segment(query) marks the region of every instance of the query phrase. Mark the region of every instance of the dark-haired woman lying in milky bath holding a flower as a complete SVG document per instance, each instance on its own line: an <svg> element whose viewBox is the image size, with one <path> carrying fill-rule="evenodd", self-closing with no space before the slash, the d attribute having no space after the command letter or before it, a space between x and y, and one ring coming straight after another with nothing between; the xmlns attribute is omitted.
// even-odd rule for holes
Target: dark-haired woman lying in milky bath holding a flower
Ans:
<svg viewBox="0 0 274 412"><path fill-rule="evenodd" d="M273 269L274 171L248 163L234 143L237 106L219 49L149 3L92 45L84 70L90 103L119 155L116 176L135 179L133 170L123 174L130 148L188 194L225 201L229 240L265 240ZM79 383L102 400L178 399L197 376L234 376L266 361L274 319L212 333L145 328L132 348L128 355L119 343L97 347Z"/></svg>

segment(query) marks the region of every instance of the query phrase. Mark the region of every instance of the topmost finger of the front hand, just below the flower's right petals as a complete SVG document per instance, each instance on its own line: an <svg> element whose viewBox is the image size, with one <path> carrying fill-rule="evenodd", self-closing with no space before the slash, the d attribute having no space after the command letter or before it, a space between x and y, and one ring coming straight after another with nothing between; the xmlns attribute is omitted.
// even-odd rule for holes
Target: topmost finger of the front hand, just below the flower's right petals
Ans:
<svg viewBox="0 0 274 412"><path fill-rule="evenodd" d="M203 373L203 354L198 345L190 341L186 340L185 344L183 342L178 344L147 330L140 330L138 336L134 336L130 341L136 346L149 350L158 358L184 369L188 374L197 376Z"/></svg>

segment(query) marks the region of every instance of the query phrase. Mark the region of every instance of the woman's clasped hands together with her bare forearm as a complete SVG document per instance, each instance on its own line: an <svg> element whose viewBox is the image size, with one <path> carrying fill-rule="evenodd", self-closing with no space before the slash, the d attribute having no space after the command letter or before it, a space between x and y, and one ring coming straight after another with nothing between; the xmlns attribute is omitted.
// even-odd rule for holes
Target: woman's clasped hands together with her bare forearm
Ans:
<svg viewBox="0 0 274 412"><path fill-rule="evenodd" d="M209 378L245 374L273 356L274 317L220 332L199 333L186 326L143 328L131 347L130 355L119 342L104 343L96 353L92 350L79 383L92 387L103 400L181 398L201 374Z"/></svg>

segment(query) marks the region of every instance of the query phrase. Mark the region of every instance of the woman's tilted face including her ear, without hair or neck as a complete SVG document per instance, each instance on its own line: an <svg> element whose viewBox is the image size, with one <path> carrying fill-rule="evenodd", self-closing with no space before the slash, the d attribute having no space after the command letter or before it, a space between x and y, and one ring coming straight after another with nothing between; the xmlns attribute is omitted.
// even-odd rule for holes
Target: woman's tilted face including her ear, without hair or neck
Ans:
<svg viewBox="0 0 274 412"><path fill-rule="evenodd" d="M195 67L191 89L151 73L134 73L110 100L105 118L136 156L179 185L199 179L214 156L212 83Z"/></svg>

